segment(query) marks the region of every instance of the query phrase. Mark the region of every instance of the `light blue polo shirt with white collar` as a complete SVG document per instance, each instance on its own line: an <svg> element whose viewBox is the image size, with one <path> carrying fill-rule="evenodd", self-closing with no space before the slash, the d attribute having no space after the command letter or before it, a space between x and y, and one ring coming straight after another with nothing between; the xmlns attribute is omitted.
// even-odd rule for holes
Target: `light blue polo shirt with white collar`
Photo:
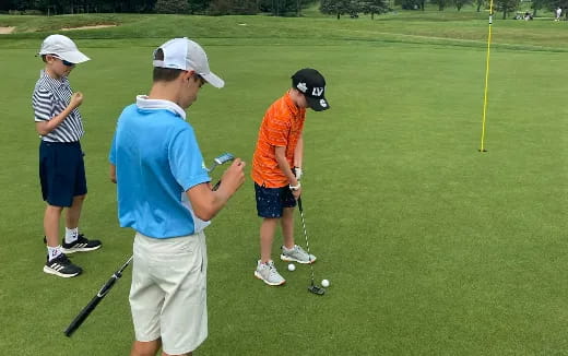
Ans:
<svg viewBox="0 0 568 356"><path fill-rule="evenodd" d="M118 118L109 161L116 166L121 227L154 238L201 232L186 191L209 182L186 112L175 103L138 96Z"/></svg>

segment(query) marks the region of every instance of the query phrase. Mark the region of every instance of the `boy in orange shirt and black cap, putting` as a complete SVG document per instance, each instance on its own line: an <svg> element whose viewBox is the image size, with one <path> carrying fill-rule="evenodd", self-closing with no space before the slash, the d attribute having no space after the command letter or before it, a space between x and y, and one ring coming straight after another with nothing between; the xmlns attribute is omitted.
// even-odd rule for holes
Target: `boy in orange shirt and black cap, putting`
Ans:
<svg viewBox="0 0 568 356"><path fill-rule="evenodd" d="M329 109L324 92L326 80L317 70L306 68L297 71L292 75L292 88L268 108L260 126L252 156L257 211L262 217L260 260L255 276L268 285L282 285L286 282L271 259L272 241L279 222L284 236L280 259L298 263L316 261L313 254L308 254L294 242L294 206L301 194L301 131L306 108L315 111Z"/></svg>

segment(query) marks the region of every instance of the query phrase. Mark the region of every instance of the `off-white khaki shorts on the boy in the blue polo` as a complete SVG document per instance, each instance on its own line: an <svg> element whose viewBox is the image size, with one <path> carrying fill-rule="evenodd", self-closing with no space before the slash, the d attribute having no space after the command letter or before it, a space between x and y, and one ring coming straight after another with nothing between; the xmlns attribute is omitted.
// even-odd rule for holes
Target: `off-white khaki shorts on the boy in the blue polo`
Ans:
<svg viewBox="0 0 568 356"><path fill-rule="evenodd" d="M162 337L170 355L208 337L205 235L157 239L137 233L130 308L138 341Z"/></svg>

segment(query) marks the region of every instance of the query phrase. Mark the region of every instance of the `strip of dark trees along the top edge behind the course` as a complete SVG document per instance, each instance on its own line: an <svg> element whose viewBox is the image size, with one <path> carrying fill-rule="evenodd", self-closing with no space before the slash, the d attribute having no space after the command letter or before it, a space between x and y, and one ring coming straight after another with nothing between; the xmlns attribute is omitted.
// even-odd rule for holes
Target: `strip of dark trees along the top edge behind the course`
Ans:
<svg viewBox="0 0 568 356"><path fill-rule="evenodd" d="M69 13L178 13L178 14L257 14L271 13L274 16L300 16L301 10L319 2L324 14L338 20L347 15L358 17L359 13L376 14L401 7L406 10L422 10L426 2L438 7L439 11L465 5L474 5L477 11L488 8L488 0L0 0L0 12L45 14ZM520 0L494 0L494 12L502 12L502 19L519 9ZM533 15L539 10L563 8L568 13L568 0L532 0ZM568 17L567 17L568 19Z"/></svg>

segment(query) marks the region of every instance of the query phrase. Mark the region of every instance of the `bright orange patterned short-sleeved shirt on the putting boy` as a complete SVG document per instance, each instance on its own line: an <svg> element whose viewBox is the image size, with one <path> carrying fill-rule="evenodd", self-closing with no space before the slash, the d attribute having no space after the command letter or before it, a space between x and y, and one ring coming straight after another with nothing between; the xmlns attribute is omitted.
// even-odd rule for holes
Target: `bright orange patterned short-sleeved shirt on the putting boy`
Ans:
<svg viewBox="0 0 568 356"><path fill-rule="evenodd" d="M288 93L274 102L264 114L252 156L252 180L267 188L281 188L288 179L280 169L274 147L286 147L286 161L294 166L294 151L301 137L306 109L298 108Z"/></svg>

